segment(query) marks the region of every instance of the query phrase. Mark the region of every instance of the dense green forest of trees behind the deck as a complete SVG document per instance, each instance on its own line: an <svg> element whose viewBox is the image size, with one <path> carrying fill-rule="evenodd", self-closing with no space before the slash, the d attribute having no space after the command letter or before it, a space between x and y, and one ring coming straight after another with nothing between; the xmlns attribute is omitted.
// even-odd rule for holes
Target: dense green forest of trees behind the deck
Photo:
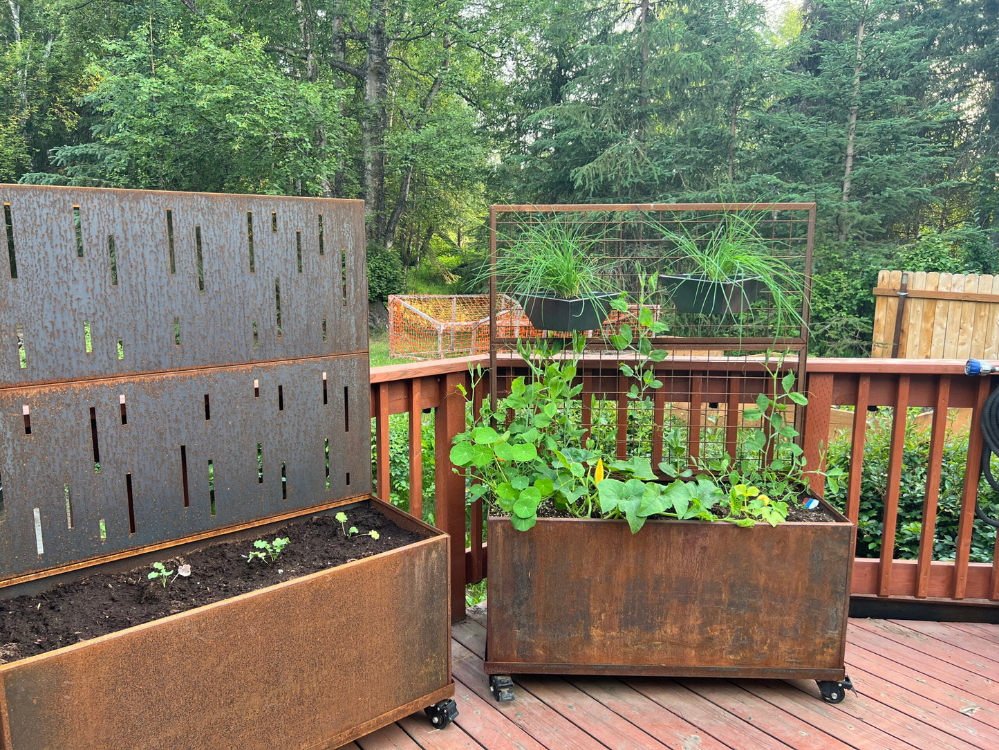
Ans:
<svg viewBox="0 0 999 750"><path fill-rule="evenodd" d="M7 0L0 181L364 198L373 299L490 203L818 203L813 351L882 268L999 273L999 0Z"/></svg>

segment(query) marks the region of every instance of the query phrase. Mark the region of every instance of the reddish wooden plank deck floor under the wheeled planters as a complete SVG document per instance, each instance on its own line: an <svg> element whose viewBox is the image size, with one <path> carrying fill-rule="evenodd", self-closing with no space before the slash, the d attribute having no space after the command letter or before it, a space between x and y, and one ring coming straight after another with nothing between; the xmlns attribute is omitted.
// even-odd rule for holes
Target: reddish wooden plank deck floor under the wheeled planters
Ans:
<svg viewBox="0 0 999 750"><path fill-rule="evenodd" d="M459 716L423 714L349 750L996 750L999 625L851 619L837 705L814 682L520 677L495 702L483 672L486 612L454 628Z"/></svg>

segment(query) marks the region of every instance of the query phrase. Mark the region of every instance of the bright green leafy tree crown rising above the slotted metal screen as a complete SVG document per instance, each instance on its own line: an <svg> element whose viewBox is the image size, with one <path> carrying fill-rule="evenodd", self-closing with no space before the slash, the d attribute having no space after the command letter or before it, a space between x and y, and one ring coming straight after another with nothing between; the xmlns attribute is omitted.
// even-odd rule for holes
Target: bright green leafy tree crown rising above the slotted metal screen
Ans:
<svg viewBox="0 0 999 750"><path fill-rule="evenodd" d="M101 115L94 142L54 150L59 181L280 194L335 168L314 142L321 123L339 140L335 89L290 79L263 38L210 16L158 36L145 26L109 41L84 100Z"/></svg>

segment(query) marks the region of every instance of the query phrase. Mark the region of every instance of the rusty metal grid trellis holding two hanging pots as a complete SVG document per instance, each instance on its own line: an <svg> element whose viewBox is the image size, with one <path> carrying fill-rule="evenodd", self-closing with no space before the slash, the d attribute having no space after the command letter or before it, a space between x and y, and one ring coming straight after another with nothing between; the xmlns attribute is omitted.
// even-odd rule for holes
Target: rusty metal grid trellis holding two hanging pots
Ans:
<svg viewBox="0 0 999 750"><path fill-rule="evenodd" d="M584 252L598 259L606 290L627 295L627 310L611 310L601 328L584 332L585 352L579 380L583 386L579 412L572 415L604 455L645 455L678 470L728 455L745 457L745 439L772 423L744 419L744 406L760 393L781 393L773 376L796 372L797 390L804 388L808 345L811 256L815 227L813 203L497 205L490 211L491 355L493 394L504 394L509 378L522 370L504 371L502 358L515 351L517 340L531 341L564 333L514 328L498 318L500 300L511 291L498 275L498 261L531 227L557 223L582 240ZM700 269L679 239L700 249L726 225L750 228L758 251L784 269L782 306L758 284L751 304L740 312L683 312L662 276L682 276ZM727 223L727 224L726 224ZM501 267L501 264L500 264ZM616 350L610 336L628 325L637 335L639 274L657 280L643 306L665 330L649 337L666 358L654 365L662 382L641 398L627 396L636 380L620 362L633 354ZM500 368L497 368L497 363ZM515 362L515 360L514 360ZM632 363L633 364L633 363ZM786 399L785 399L786 401ZM770 413L765 415L768 422ZM785 423L802 430L803 410L783 412ZM775 429L775 428L774 428ZM772 450L768 443L767 451ZM772 458L759 456L761 460Z"/></svg>

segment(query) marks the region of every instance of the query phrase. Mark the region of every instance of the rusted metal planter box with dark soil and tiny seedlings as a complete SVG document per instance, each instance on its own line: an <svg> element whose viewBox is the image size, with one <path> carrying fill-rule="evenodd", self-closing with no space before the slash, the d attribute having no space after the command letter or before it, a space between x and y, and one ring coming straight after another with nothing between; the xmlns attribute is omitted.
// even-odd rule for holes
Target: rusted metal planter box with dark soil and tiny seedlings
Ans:
<svg viewBox="0 0 999 750"><path fill-rule="evenodd" d="M366 502L426 538L2 665L0 747L336 748L454 695L448 537Z"/></svg>

